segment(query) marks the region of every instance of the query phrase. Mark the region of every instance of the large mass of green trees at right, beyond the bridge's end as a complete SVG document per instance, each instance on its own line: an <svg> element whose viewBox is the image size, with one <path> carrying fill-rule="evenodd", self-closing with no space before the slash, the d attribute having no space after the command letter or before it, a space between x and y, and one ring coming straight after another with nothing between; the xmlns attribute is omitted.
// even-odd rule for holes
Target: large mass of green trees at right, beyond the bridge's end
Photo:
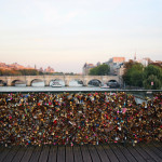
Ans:
<svg viewBox="0 0 162 162"><path fill-rule="evenodd" d="M125 85L160 90L162 87L162 68L157 65L144 67L140 63L130 60L124 65L123 81Z"/></svg>

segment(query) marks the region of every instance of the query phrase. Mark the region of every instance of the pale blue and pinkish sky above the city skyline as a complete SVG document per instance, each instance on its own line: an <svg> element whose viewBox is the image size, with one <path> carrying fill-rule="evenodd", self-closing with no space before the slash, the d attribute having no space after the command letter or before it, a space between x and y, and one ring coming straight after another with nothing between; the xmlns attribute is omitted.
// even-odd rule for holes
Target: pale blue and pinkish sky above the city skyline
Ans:
<svg viewBox="0 0 162 162"><path fill-rule="evenodd" d="M162 0L0 0L0 62L82 72L85 63L162 60Z"/></svg>

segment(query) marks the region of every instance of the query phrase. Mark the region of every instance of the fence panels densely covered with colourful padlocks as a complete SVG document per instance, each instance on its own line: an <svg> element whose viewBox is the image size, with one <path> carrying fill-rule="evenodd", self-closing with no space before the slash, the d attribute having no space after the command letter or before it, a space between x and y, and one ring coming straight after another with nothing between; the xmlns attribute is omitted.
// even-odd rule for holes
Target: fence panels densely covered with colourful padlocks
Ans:
<svg viewBox="0 0 162 162"><path fill-rule="evenodd" d="M162 141L162 93L0 94L0 145Z"/></svg>

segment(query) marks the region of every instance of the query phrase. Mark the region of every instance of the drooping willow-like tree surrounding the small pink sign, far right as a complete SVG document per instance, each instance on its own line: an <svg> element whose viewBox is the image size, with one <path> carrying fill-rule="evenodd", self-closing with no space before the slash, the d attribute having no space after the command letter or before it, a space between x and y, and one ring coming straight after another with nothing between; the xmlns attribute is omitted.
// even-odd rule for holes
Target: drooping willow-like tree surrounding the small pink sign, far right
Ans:
<svg viewBox="0 0 162 162"><path fill-rule="evenodd" d="M153 85L151 85L151 82L153 82ZM145 89L149 89L149 90L160 90L162 84L160 79L158 79L157 76L150 75L148 79L144 80L144 86Z"/></svg>

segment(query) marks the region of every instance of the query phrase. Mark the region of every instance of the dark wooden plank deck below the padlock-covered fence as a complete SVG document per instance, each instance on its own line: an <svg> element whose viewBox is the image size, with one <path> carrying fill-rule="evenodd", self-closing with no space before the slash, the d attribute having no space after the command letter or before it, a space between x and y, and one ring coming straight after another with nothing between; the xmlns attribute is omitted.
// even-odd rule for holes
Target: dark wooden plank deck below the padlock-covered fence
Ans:
<svg viewBox="0 0 162 162"><path fill-rule="evenodd" d="M162 162L162 143L0 147L0 162Z"/></svg>

